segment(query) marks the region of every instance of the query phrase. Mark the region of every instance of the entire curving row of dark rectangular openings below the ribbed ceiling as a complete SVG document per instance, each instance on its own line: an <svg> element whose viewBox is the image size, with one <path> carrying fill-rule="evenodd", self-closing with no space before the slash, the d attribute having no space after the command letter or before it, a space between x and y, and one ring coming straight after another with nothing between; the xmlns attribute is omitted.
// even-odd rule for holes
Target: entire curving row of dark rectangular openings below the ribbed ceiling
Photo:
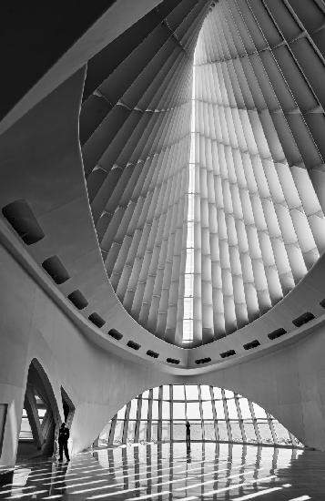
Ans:
<svg viewBox="0 0 325 501"><path fill-rule="evenodd" d="M5 219L11 224L11 226L18 233L18 235L26 245L36 243L38 240L42 240L45 237L45 233L38 224L33 211L24 199L17 199L14 202L9 203L3 208L2 213L5 216ZM42 262L42 267L58 285L64 283L70 278L68 271L66 271L65 266L57 256L51 256L47 258ZM67 298L76 306L78 310L83 310L88 305L88 302L81 291L72 291L70 294L68 294ZM325 299L320 302L320 306L322 308L325 308ZM313 313L305 312L298 318L294 319L292 323L296 327L301 327L314 318L315 315ZM96 325L96 327L98 327L99 329L106 323L106 321L97 312L91 313L88 316L88 320L94 323L94 325ZM285 329L279 328L273 332L270 332L268 334L268 338L269 340L273 341L286 333L287 331ZM111 329L108 334L116 341L120 341L123 337L123 335L120 332L117 332L115 329ZM249 343L244 344L243 348L244 350L251 350L253 348L257 348L259 345L259 340L255 339ZM127 342L127 346L136 351L141 348L140 344L131 340ZM219 353L219 356L221 358L229 358L230 356L233 356L235 354L235 350L228 350L227 352ZM159 353L152 350L147 350L147 356L151 358L158 358ZM180 363L180 360L167 358L166 362L178 365ZM209 362L211 362L210 357L197 359L195 361L197 365Z"/></svg>

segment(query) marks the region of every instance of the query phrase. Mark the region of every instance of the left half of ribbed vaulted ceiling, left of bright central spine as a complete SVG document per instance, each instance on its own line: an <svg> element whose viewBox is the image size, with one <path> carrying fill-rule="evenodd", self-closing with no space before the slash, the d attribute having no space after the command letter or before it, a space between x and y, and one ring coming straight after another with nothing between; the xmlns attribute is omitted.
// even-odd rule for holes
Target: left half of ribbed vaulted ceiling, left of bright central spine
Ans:
<svg viewBox="0 0 325 501"><path fill-rule="evenodd" d="M80 138L117 297L144 328L181 346L192 66L209 2L171 5L89 61Z"/></svg>

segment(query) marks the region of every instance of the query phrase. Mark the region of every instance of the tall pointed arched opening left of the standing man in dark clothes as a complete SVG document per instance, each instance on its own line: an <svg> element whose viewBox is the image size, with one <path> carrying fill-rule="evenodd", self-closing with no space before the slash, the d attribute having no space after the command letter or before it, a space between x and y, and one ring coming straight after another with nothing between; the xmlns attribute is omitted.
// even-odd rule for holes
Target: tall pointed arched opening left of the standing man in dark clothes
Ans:
<svg viewBox="0 0 325 501"><path fill-rule="evenodd" d="M60 421L51 383L34 359L28 370L17 456L53 455Z"/></svg>

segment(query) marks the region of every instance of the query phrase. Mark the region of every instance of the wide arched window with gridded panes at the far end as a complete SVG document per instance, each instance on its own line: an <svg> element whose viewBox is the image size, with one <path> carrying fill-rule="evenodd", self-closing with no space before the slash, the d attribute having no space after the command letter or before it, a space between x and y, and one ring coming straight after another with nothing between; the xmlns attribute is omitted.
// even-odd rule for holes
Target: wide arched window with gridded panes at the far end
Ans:
<svg viewBox="0 0 325 501"><path fill-rule="evenodd" d="M137 396L104 428L102 444L191 441L303 446L271 414L216 386L170 384Z"/></svg>

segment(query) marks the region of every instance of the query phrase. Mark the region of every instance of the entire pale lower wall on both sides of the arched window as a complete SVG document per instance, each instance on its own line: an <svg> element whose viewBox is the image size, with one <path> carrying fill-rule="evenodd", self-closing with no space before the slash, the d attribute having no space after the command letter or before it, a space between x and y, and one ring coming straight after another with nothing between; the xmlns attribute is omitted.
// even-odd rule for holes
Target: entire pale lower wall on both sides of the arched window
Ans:
<svg viewBox="0 0 325 501"><path fill-rule="evenodd" d="M302 443L325 450L323 328L308 338L226 369L175 376L157 363L130 362L89 343L36 281L0 249L0 403L9 404L1 463L13 465L30 362L43 366L63 418L60 388L76 414L73 452L90 445L107 420L135 395L163 383L207 383L266 408Z"/></svg>

